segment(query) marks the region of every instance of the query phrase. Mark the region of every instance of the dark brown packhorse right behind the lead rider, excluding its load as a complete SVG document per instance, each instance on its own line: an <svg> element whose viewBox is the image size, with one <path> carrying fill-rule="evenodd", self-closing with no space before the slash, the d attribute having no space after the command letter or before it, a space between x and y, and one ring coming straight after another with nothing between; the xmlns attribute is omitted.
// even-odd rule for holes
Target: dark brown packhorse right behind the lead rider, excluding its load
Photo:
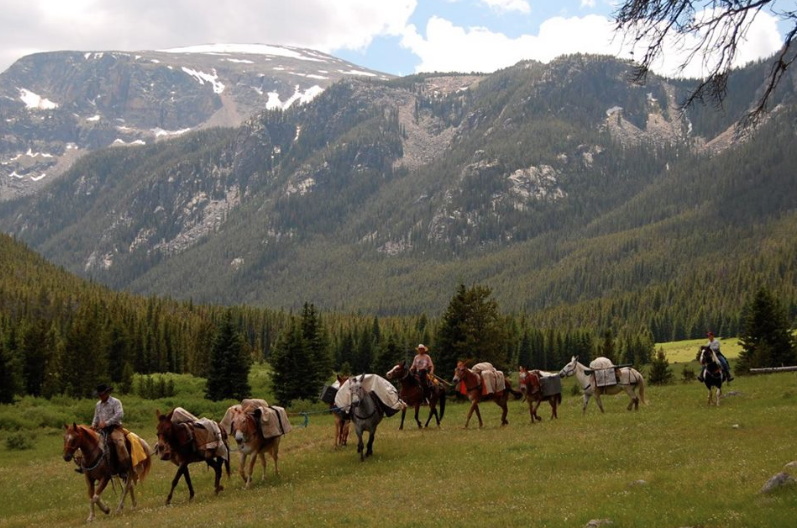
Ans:
<svg viewBox="0 0 797 528"><path fill-rule="evenodd" d="M166 504L172 502L172 495L177 483L180 482L180 477L185 476L185 483L188 485L188 500L194 498L194 486L191 484L191 475L188 472L188 464L194 462L205 462L208 466L212 467L216 472L216 495L224 490L224 487L219 484L221 480L221 469L225 466L227 469L227 478L230 477L230 460L221 456L213 456L206 454L202 450L196 449L193 433L194 425L192 423L172 423L172 414L161 414L160 410L156 410L155 414L158 417L158 448L157 452L161 460L171 460L177 466L177 474L172 479L172 489L169 490L169 496L166 497ZM227 433L222 429L222 439L225 448L227 447ZM229 453L229 449L227 449Z"/></svg>

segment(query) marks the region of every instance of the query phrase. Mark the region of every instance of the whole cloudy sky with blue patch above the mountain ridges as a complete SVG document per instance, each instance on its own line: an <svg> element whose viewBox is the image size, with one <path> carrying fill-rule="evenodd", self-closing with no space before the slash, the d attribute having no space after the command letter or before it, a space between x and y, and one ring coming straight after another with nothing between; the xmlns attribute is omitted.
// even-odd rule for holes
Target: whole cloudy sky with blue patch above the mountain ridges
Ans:
<svg viewBox="0 0 797 528"><path fill-rule="evenodd" d="M612 0L2 0L0 71L40 51L137 51L197 44L311 48L395 75L491 72L565 53L630 57ZM698 5L710 4L699 0ZM784 9L794 0L774 0ZM741 65L773 54L787 28L751 26ZM654 71L676 74L674 45ZM700 60L683 72L700 75Z"/></svg>

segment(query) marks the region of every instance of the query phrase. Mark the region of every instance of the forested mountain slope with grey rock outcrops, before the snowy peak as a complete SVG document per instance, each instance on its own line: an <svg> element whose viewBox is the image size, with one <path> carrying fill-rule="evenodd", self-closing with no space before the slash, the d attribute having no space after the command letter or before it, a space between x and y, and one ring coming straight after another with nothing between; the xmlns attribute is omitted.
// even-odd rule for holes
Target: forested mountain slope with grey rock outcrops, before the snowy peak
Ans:
<svg viewBox="0 0 797 528"><path fill-rule="evenodd" d="M793 319L793 88L736 137L765 65L719 114L630 72L577 55L344 81L238 130L87 156L0 226L115 288L201 302L437 314L481 283L539 324L666 341L737 333L767 285Z"/></svg>

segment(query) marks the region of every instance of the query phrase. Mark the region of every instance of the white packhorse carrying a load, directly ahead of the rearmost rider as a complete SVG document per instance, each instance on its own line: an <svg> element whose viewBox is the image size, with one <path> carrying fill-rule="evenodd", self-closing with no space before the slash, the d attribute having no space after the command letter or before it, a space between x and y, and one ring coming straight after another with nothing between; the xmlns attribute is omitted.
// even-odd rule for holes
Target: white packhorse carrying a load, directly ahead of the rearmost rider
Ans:
<svg viewBox="0 0 797 528"><path fill-rule="evenodd" d="M647 404L645 401L645 379L642 374L633 367L619 365L615 366L611 360L605 357L596 358L586 367L578 362L578 356L573 356L570 363L559 371L560 377L576 376L581 391L584 393L584 404L581 407L582 414L587 412L587 404L592 396L598 402L598 408L603 411L601 395L618 394L625 391L631 401L627 409L630 411L639 410L639 402ZM639 396L636 390L639 389Z"/></svg>

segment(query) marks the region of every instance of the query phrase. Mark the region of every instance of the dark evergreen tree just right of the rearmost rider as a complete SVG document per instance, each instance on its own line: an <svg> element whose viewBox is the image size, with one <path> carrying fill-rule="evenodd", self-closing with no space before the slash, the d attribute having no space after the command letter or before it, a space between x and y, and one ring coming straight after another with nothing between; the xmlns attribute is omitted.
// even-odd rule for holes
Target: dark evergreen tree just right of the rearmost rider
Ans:
<svg viewBox="0 0 797 528"><path fill-rule="evenodd" d="M797 347L786 311L769 289L762 287L756 292L746 305L745 314L738 371L797 364Z"/></svg>

